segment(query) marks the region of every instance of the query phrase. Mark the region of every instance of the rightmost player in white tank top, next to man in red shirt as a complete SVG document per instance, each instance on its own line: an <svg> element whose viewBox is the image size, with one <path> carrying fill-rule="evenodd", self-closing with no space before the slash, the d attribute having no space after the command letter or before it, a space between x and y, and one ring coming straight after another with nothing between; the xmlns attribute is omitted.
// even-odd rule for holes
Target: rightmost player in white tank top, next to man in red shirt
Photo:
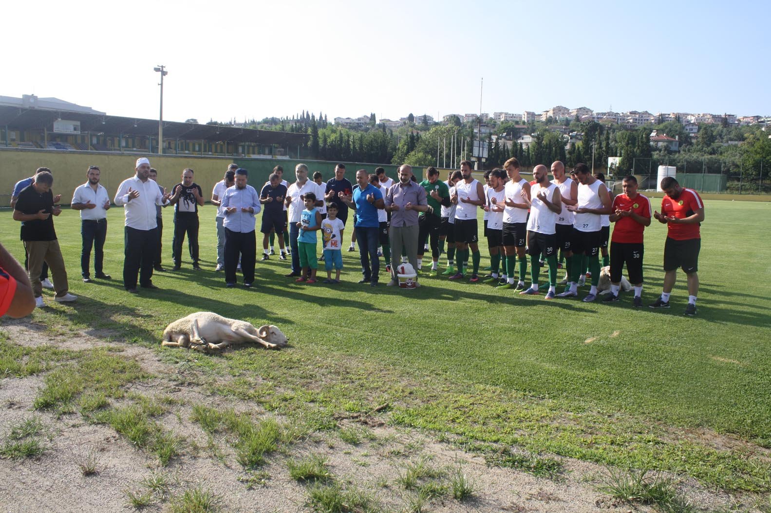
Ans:
<svg viewBox="0 0 771 513"><path fill-rule="evenodd" d="M575 213L573 240L571 240L573 250L571 281L569 282L570 288L557 294L557 297L578 295L577 282L583 267L581 260L585 255L589 260L589 269L591 270L591 290L584 297L584 301L588 303L597 298L597 283L600 280L598 255L602 227L600 216L611 213L611 197L604 183L591 175L589 166L583 163L576 164L574 171L581 185L578 186L577 205L567 207L568 210Z"/></svg>

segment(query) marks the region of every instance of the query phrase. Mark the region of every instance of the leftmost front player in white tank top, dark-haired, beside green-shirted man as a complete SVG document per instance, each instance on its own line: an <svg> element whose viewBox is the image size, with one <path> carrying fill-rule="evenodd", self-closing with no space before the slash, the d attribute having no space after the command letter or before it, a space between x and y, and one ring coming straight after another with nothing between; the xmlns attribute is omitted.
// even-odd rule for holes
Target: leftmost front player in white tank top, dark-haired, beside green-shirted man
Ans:
<svg viewBox="0 0 771 513"><path fill-rule="evenodd" d="M460 163L460 173L463 179L455 186L455 195L450 201L455 203L455 249L458 253L458 272L449 277L450 280L460 280L465 276L468 267L469 253L473 253L472 283L480 280L477 273L480 269L479 228L476 223L476 209L485 203L484 189L479 180L471 175L471 163L464 160ZM471 251L469 251L471 247Z"/></svg>

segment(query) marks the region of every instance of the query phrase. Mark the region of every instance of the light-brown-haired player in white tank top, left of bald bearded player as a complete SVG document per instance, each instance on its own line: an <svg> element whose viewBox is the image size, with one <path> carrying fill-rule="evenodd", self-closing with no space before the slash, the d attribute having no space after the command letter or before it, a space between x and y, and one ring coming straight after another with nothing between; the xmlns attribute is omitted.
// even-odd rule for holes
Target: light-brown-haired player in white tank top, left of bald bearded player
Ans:
<svg viewBox="0 0 771 513"><path fill-rule="evenodd" d="M501 288L514 289L515 292L525 290L525 274L527 273L527 202L530 201L530 183L520 176L520 163L510 158L503 164L503 169L509 176L506 184L506 203L503 209L503 253L506 254L506 269L508 281ZM519 261L520 279L514 284L514 269Z"/></svg>

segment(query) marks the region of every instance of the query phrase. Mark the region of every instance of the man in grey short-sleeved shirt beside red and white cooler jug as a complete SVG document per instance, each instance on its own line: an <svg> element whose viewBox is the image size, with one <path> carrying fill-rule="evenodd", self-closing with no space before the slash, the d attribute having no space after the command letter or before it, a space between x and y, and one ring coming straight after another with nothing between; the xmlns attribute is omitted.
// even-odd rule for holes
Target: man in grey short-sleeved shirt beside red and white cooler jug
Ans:
<svg viewBox="0 0 771 513"><path fill-rule="evenodd" d="M399 283L399 273L396 263L402 256L402 248L406 250L410 265L418 268L418 215L428 210L426 189L412 181L412 166L404 164L399 167L399 183L390 186L385 193L385 211L391 213L391 281L387 286Z"/></svg>

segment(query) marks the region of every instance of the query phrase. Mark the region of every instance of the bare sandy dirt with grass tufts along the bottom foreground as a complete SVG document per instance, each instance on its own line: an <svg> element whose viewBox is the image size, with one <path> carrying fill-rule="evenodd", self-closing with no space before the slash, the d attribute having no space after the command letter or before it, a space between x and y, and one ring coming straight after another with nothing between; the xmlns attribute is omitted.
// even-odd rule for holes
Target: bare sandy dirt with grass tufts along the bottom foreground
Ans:
<svg viewBox="0 0 771 513"><path fill-rule="evenodd" d="M194 405L202 404L264 416L264 411L254 404L209 394L196 385L203 378L195 371L164 363L152 348L109 340L109 334L77 334L49 340L44 327L23 322L4 324L3 330L15 344L56 344L71 350L108 347L118 351L120 357L136 360L154 377L150 382L130 385L132 391L173 398L169 411L156 420L183 440L181 454L161 468L153 454L133 447L108 426L89 424L79 414L56 416L32 411L32 401L42 386L41 376L6 377L0 381L0 432L7 434L10 426L38 417L45 426L45 453L22 460L0 459L0 505L4 513L133 511L126 491L141 491L141 482L153 472L166 476L170 495L201 487L219 498L223 511L308 511L308 485L290 477L287 463L310 454L325 459L335 481L345 488L364 491L382 511L414 507L416 491L408 489L400 477L417 464L436 471L442 476L436 482L445 486L460 468L475 488L473 496L463 502L455 500L451 493L427 500L424 511L632 509L597 491L596 485L604 474L604 468L597 464L561 458L565 471L560 478L537 478L524 471L490 467L479 454L436 441L433 434L389 427L379 417L341 421L342 431L362 434L355 443L344 441L341 431L314 432L269 454L267 463L255 471L245 471L237 464L231 434L207 434L190 421L190 415ZM689 435L709 438L707 433L694 431ZM79 463L89 455L96 461L96 474L84 476ZM715 508L730 501L728 495L708 491L692 480L680 486L702 507ZM146 511L160 511L167 500L154 499ZM639 506L635 509L649 511Z"/></svg>

